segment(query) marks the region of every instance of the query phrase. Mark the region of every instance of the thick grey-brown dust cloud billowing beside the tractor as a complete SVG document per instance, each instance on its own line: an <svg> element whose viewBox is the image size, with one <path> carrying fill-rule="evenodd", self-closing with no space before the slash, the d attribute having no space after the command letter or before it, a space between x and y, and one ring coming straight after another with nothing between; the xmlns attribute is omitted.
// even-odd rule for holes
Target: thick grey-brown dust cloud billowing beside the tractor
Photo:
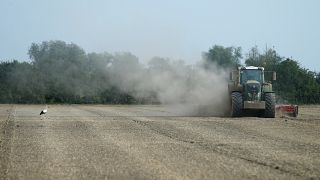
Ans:
<svg viewBox="0 0 320 180"><path fill-rule="evenodd" d="M122 56L123 57L123 56ZM126 62L126 65L123 64ZM110 65L114 86L137 99L166 105L181 116L222 116L228 101L228 73L214 65L154 57L147 65L117 59Z"/></svg>

